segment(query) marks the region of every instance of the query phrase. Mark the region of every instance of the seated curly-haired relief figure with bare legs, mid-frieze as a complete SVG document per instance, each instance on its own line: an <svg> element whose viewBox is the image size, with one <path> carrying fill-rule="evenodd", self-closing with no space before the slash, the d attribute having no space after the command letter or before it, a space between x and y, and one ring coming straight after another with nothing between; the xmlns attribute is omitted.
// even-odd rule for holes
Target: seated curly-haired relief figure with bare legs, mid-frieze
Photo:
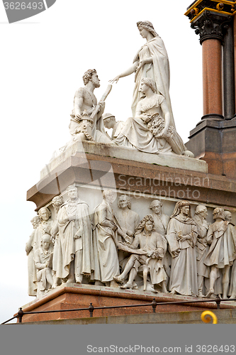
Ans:
<svg viewBox="0 0 236 355"><path fill-rule="evenodd" d="M128 282L121 285L120 288L133 288L133 281L138 271L142 271L144 278L143 290L147 288L147 273L150 272L152 290L154 285L161 285L163 292L167 293L164 281L167 275L163 268L164 243L162 236L154 231L154 220L152 216L146 216L142 219L135 232L133 243L126 244L118 242L118 248L131 253L128 263L125 265L123 273L114 277L118 283L123 283L126 275L129 274ZM141 269L141 270L140 270Z"/></svg>

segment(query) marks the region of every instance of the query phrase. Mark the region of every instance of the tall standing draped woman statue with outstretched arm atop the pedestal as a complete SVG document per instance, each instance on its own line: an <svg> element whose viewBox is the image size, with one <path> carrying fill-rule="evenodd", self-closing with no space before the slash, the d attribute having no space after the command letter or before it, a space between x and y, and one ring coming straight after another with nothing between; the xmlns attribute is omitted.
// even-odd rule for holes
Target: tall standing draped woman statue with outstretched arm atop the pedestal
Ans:
<svg viewBox="0 0 236 355"><path fill-rule="evenodd" d="M174 126L172 105L169 97L169 59L162 38L157 35L150 21L137 22L137 28L147 43L142 45L133 60L133 65L115 77L111 82L118 82L120 77L127 77L135 72L135 89L133 92L132 112L135 116L137 103L142 98L140 83L142 78L150 77L157 86L157 94L161 94L167 102L170 124ZM161 114L162 116L162 114ZM175 128L175 126L174 126Z"/></svg>

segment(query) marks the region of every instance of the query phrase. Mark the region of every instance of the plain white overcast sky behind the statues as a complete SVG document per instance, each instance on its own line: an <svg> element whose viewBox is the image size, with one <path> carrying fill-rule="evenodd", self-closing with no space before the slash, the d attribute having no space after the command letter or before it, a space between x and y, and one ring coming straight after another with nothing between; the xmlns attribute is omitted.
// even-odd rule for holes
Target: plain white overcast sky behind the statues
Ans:
<svg viewBox="0 0 236 355"><path fill-rule="evenodd" d="M184 16L191 0L57 0L47 11L1 28L1 309L0 322L33 300L27 294L25 244L35 204L26 191L53 151L69 141L69 114L82 75L96 68L101 98L108 80L132 65L145 43L137 21L151 21L171 67L176 129L188 140L202 116L201 45ZM113 84L106 112L131 115L134 75Z"/></svg>

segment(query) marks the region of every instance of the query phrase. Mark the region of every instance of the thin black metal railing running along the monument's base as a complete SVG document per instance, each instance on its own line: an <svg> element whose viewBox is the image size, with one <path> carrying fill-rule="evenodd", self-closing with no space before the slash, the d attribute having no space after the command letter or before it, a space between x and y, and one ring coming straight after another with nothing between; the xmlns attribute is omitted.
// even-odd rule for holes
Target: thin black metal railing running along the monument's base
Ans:
<svg viewBox="0 0 236 355"><path fill-rule="evenodd" d="M130 308L130 307L147 307L152 306L152 312L156 312L156 308L158 305L186 305L187 303L204 303L204 302L215 302L217 309L220 310L220 302L223 301L236 301L236 298L227 298L225 300L221 300L220 297L215 297L215 300L192 300L192 301L176 301L176 302L157 302L155 298L153 298L151 303L139 304L139 305L125 305L125 306L104 306L104 307L94 307L92 303L90 303L87 308L75 308L72 310L48 310L48 311L35 311L35 312L24 312L22 308L19 308L16 316L12 317L10 320L6 320L6 322L1 324L6 324L11 320L18 318L19 323L22 323L23 315L38 315L43 313L56 313L56 312L79 312L79 311L89 311L89 317L94 317L94 310L112 310L116 308Z"/></svg>

